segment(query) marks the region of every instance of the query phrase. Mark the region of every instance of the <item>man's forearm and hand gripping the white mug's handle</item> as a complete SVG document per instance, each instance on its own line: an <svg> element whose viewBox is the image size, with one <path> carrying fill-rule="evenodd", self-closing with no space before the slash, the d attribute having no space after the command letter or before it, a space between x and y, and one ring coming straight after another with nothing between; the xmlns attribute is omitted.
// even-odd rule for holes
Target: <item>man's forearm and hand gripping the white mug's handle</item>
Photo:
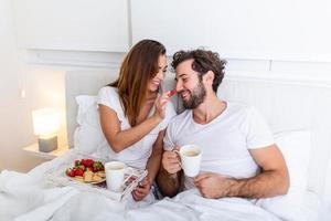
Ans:
<svg viewBox="0 0 331 221"><path fill-rule="evenodd" d="M174 197L181 187L181 167L178 155L164 151L157 182L163 196Z"/></svg>

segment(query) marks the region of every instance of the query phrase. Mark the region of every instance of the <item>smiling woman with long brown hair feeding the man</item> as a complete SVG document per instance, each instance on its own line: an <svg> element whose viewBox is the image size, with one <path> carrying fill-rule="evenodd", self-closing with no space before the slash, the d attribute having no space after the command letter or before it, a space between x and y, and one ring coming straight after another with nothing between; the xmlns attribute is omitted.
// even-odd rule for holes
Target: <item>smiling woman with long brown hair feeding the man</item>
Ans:
<svg viewBox="0 0 331 221"><path fill-rule="evenodd" d="M148 170L148 177L132 191L136 201L150 191L160 167L164 129L175 115L169 93L159 95L167 66L164 46L142 40L125 57L117 81L98 94L110 158Z"/></svg>

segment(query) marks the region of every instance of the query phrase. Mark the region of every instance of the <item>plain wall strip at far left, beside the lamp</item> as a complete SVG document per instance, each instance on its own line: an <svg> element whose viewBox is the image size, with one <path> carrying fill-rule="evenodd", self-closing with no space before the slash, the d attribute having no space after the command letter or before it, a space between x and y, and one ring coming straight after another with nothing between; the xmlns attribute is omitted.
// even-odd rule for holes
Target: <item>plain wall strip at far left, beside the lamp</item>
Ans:
<svg viewBox="0 0 331 221"><path fill-rule="evenodd" d="M41 160L20 149L32 141L31 116L20 98L20 63L11 12L10 0L0 0L0 169L26 171Z"/></svg>

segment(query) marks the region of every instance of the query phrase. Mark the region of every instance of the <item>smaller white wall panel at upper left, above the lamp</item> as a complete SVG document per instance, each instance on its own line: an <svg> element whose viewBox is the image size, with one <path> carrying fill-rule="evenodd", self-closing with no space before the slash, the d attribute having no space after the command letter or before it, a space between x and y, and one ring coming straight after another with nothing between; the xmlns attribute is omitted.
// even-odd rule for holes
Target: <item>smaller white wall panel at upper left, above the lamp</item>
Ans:
<svg viewBox="0 0 331 221"><path fill-rule="evenodd" d="M127 0L12 0L20 48L117 51L129 46Z"/></svg>

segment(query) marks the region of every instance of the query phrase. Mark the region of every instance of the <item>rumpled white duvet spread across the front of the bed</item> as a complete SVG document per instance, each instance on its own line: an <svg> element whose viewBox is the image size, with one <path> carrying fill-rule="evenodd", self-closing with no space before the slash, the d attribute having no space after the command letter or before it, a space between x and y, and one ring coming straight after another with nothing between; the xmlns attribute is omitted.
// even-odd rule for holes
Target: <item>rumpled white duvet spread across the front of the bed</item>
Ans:
<svg viewBox="0 0 331 221"><path fill-rule="evenodd" d="M2 171L0 220L280 220L246 199L204 199L196 190L160 201L152 201L149 196L137 203L128 196L122 202L117 202L93 189L56 187L45 181L52 171L76 158L79 156L71 150L29 173Z"/></svg>

